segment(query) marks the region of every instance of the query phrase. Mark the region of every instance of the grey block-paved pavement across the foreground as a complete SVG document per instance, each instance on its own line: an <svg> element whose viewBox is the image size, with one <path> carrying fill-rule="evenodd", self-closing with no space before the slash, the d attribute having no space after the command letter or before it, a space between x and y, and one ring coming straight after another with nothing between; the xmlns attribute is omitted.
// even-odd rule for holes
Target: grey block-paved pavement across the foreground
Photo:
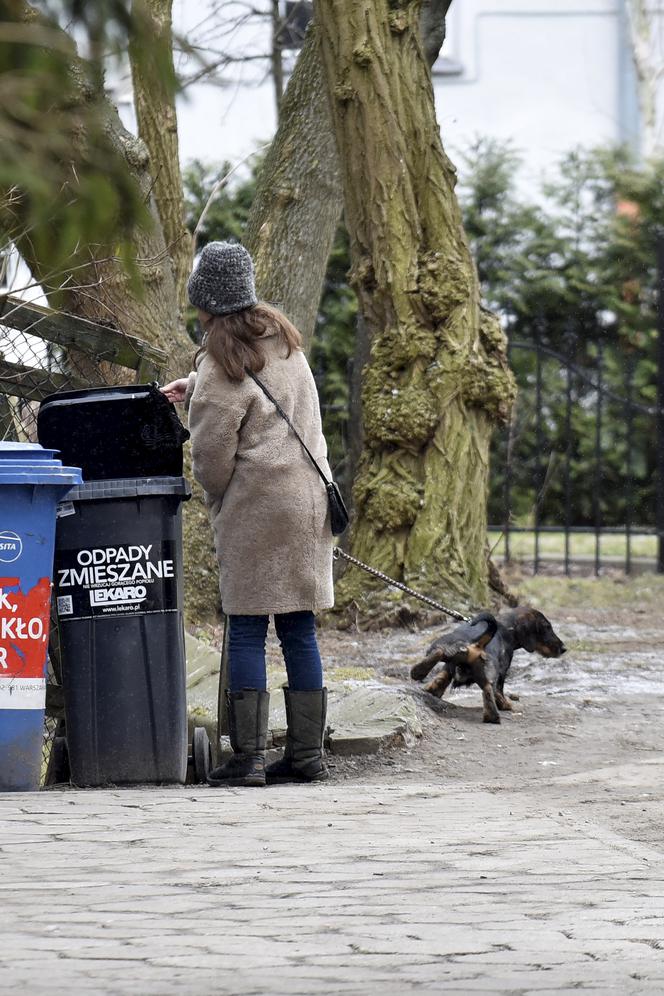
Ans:
<svg viewBox="0 0 664 996"><path fill-rule="evenodd" d="M0 992L664 992L664 849L454 785L0 797Z"/></svg>

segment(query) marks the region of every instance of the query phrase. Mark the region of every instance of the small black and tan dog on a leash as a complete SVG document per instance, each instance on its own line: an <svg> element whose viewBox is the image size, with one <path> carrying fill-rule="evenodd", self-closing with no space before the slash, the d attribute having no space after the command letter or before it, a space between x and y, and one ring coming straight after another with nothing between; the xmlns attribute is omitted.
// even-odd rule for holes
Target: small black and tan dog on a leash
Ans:
<svg viewBox="0 0 664 996"><path fill-rule="evenodd" d="M468 623L448 629L431 644L424 660L415 664L410 676L423 681L439 663L445 666L426 686L431 695L442 698L453 688L479 685L484 703L485 723L500 723L500 712L512 711L505 695L505 678L515 650L527 650L542 657L561 657L567 650L542 612L526 605L501 612L496 619L481 612ZM517 701L517 696L513 696Z"/></svg>

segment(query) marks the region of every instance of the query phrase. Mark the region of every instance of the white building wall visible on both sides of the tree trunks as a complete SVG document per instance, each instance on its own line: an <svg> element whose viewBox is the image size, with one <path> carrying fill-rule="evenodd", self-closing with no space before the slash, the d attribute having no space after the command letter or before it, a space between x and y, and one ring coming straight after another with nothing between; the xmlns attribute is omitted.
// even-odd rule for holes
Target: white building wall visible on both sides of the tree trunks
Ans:
<svg viewBox="0 0 664 996"><path fill-rule="evenodd" d="M197 30L209 2L175 0L177 29L185 36ZM511 140L524 155L523 180L534 186L575 146L634 143L637 96L624 2L454 0L444 54L459 72L434 75L452 158L479 135ZM254 25L234 43L267 52L267 32L267 24L258 33ZM227 72L236 77L232 85L188 90L178 104L184 162L235 163L270 140L274 96L265 71L263 63L242 64Z"/></svg>

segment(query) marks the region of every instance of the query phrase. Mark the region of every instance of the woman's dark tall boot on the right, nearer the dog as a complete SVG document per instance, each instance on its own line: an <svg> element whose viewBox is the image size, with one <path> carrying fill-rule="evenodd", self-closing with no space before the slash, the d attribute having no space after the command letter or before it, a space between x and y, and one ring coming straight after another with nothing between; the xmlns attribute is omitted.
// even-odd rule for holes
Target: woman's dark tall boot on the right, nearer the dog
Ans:
<svg viewBox="0 0 664 996"><path fill-rule="evenodd" d="M330 777L323 755L327 689L295 692L284 688L288 730L280 761L265 769L268 785L277 782L322 782Z"/></svg>

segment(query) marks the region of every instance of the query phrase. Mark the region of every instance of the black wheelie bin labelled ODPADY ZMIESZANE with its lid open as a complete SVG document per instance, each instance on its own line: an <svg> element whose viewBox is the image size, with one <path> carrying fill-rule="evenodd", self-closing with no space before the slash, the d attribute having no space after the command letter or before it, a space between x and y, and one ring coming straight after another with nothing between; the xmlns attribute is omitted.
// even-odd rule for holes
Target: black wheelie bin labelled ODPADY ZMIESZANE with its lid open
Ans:
<svg viewBox="0 0 664 996"><path fill-rule="evenodd" d="M54 569L71 781L182 783L188 432L156 385L132 385L52 395L38 435L85 482L58 508Z"/></svg>

